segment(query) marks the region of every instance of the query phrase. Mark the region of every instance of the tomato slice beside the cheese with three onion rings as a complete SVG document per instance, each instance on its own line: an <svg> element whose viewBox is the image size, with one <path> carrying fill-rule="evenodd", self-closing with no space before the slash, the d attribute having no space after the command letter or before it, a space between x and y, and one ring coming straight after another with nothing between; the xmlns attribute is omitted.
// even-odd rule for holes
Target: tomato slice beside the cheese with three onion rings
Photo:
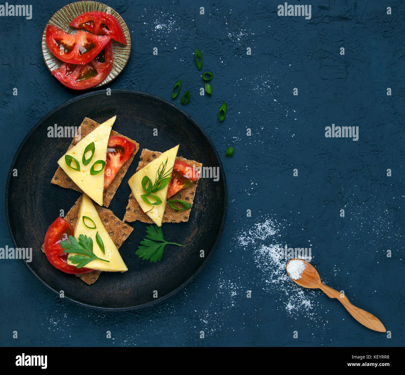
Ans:
<svg viewBox="0 0 405 375"><path fill-rule="evenodd" d="M128 139L111 136L107 146L107 160L104 169L104 191L110 186L121 167L135 151L134 143Z"/></svg>

